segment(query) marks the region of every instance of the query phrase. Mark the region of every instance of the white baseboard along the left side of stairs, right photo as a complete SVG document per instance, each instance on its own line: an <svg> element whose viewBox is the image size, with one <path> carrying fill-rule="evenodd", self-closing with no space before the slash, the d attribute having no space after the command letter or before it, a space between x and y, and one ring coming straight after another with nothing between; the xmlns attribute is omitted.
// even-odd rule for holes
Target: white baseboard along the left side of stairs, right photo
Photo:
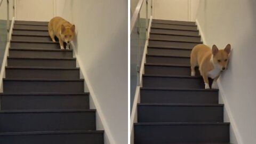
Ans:
<svg viewBox="0 0 256 144"><path fill-rule="evenodd" d="M150 28L151 28L151 22L152 22L152 15L150 16L150 20L148 23L148 31L147 31L148 38L149 38L149 33L150 33ZM142 85L142 83L141 83L142 82L142 74L144 73L144 64L146 62L147 47L148 47L148 39L146 40L146 43L145 43L143 57L142 57L141 66L140 66L140 86ZM132 105L132 113L131 113L131 118L130 118L130 144L134 143L133 124L137 122L137 103L140 102L140 86L136 87L134 101L133 101L133 105Z"/></svg>

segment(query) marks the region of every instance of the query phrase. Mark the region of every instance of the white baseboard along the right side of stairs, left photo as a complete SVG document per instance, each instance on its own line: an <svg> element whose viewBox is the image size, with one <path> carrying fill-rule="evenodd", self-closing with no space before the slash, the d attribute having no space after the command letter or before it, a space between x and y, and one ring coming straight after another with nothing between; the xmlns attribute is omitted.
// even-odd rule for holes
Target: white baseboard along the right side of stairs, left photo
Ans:
<svg viewBox="0 0 256 144"><path fill-rule="evenodd" d="M97 123L97 125L98 124L102 125L103 129L105 131L104 132L105 133L105 138L104 138L105 139L105 143L116 144L116 142L115 142L115 140L113 138L113 135L110 132L109 126L108 126L107 122L105 121L104 115L102 113L102 108L101 108L101 106L100 106L100 104L98 102L98 99L95 97L95 93L94 93L94 91L92 89L92 86L91 86L89 77L86 74L85 68L83 67L83 65L80 65L82 63L82 61L81 61L81 59L80 59L80 57L79 57L79 55L77 53L77 48L76 48L76 46L74 45L73 42L71 42L71 46L73 48L73 52L74 52L74 55L76 57L77 64L78 64L78 66L79 66L79 68L81 70L82 76L83 76L83 78L85 80L84 81L85 86L87 86L87 87L85 87L85 89L87 89L90 92L90 99L92 100L95 109L97 109L96 113L98 114L98 116L100 118L100 119L97 120L97 122L99 122L99 123ZM108 140L108 141L106 142L106 140Z"/></svg>

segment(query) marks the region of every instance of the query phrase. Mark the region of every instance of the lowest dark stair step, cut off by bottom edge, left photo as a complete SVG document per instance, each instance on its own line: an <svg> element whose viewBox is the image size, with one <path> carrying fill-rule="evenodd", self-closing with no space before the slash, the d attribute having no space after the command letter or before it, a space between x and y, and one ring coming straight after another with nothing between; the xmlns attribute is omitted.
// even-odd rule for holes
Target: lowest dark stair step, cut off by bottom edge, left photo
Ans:
<svg viewBox="0 0 256 144"><path fill-rule="evenodd" d="M0 133L1 144L103 144L103 131L49 131Z"/></svg>

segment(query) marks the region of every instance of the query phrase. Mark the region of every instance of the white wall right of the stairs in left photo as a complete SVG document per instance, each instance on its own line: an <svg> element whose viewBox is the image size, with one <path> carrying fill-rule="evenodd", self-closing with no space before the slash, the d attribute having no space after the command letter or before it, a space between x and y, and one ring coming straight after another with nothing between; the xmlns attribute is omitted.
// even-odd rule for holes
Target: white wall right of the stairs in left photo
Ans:
<svg viewBox="0 0 256 144"><path fill-rule="evenodd" d="M57 15L74 23L75 45L109 128L111 144L127 143L127 45L128 5L126 0L58 0ZM97 117L98 129L100 126ZM111 140L110 140L111 141Z"/></svg>

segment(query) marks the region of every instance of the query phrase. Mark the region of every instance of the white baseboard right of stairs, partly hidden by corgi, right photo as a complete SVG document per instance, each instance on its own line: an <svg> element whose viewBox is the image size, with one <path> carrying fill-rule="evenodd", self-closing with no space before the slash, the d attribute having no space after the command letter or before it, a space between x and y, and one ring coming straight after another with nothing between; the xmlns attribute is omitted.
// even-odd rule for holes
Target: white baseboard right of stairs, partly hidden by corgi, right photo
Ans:
<svg viewBox="0 0 256 144"><path fill-rule="evenodd" d="M205 40L205 35L204 35L204 33L203 33L202 27L200 26L200 23L198 22L197 19L196 19L196 25L197 25L197 27L198 27L199 34L201 35L201 38L202 38L203 43L204 43L205 45L207 45L207 42L206 42L206 40ZM233 115L232 115L232 113L231 113L229 103L228 103L228 101L227 101L227 99L226 99L226 96L225 96L225 94L224 94L224 91L223 91L223 89L222 89L222 86L221 86L221 83L220 83L219 79L218 79L218 81L217 81L217 84L218 84L218 87L219 87L219 95L220 95L220 98L222 99L223 104L225 105L225 109L226 109L226 111L227 111L227 119L229 120L230 126L233 128L232 130L233 130L233 132L234 132L234 134L235 134L234 136L235 136L236 142L235 142L234 144L236 144L236 143L244 144L243 141L242 141L242 138L241 138L241 134L239 133L239 131L238 131L238 129L237 129L237 125L236 125L235 120L234 120L234 117L233 117ZM230 130L231 130L231 129L230 129Z"/></svg>

